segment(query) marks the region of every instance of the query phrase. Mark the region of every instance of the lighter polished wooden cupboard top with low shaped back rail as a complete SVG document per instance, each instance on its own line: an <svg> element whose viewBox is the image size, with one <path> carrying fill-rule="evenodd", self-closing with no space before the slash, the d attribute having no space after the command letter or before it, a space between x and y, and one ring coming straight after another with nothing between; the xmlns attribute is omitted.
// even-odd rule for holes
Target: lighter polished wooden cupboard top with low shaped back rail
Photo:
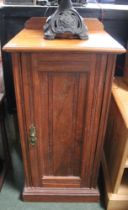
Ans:
<svg viewBox="0 0 128 210"><path fill-rule="evenodd" d="M104 31L103 25L97 19L85 20L89 39L55 39L43 38L43 18L30 19L25 28L11 39L4 50L8 52L44 52L44 51L77 51L124 53L124 47Z"/></svg>

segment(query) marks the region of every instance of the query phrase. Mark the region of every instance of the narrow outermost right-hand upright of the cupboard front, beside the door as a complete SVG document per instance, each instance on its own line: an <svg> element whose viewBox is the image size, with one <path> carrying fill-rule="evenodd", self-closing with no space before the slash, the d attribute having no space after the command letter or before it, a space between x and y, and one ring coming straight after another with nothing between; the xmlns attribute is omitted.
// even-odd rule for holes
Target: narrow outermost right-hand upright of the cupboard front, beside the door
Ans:
<svg viewBox="0 0 128 210"><path fill-rule="evenodd" d="M106 131L106 124L108 119L108 110L111 98L111 87L114 78L116 55L107 56L106 73L104 78L102 109L100 115L100 124L97 135L97 147L95 150L95 164L92 171L92 183L96 186L99 165L103 153L104 136Z"/></svg>

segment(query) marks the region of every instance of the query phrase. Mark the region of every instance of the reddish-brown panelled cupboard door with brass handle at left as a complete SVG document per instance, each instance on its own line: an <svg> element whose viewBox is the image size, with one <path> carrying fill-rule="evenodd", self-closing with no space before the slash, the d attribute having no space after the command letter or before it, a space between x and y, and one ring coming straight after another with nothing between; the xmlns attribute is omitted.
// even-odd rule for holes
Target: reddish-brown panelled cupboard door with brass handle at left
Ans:
<svg viewBox="0 0 128 210"><path fill-rule="evenodd" d="M95 187L105 66L100 54L22 54L32 186Z"/></svg>

